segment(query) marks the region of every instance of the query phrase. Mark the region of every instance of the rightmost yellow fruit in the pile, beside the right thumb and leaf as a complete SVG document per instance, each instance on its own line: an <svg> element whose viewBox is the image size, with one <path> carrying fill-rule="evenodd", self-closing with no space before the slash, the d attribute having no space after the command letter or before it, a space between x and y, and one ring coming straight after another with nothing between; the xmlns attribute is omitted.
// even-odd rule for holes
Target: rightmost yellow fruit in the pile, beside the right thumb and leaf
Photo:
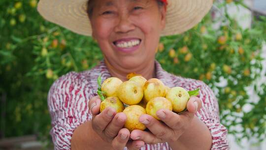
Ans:
<svg viewBox="0 0 266 150"><path fill-rule="evenodd" d="M172 103L173 112L182 112L187 108L190 96L182 87L173 87L166 93L166 99Z"/></svg>

